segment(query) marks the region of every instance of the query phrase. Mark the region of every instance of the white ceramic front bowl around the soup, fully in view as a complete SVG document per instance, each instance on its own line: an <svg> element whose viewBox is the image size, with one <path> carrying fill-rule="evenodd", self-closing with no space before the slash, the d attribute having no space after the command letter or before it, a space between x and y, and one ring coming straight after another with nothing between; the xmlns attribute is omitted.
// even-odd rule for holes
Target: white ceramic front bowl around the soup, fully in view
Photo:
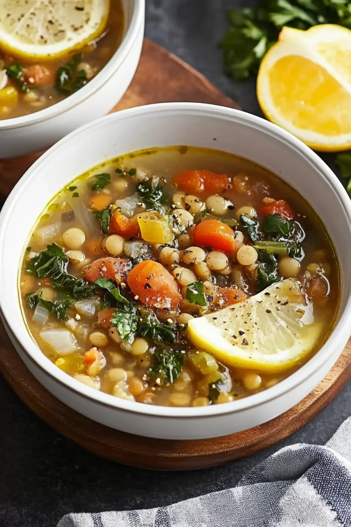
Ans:
<svg viewBox="0 0 351 527"><path fill-rule="evenodd" d="M28 334L18 300L18 263L37 217L62 187L94 165L134 150L195 145L248 158L295 187L322 218L342 273L337 324L296 373L232 403L171 408L118 399L79 383L47 359ZM24 221L25 218L25 221ZM25 364L50 392L85 416L133 434L166 439L226 435L259 425L303 399L327 374L350 335L351 202L334 173L308 147L263 119L196 103L142 106L108 115L69 134L25 173L0 214L0 308Z"/></svg>

